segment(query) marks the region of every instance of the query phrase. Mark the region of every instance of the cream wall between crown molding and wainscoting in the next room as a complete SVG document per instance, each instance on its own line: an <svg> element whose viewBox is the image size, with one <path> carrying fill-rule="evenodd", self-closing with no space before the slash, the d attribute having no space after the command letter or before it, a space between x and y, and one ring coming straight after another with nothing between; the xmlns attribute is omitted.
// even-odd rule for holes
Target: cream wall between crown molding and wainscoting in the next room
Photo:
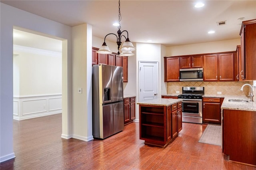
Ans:
<svg viewBox="0 0 256 170"><path fill-rule="evenodd" d="M22 51L13 58L19 72L14 73L14 96L62 92L62 58ZM14 67L15 68L15 67Z"/></svg>

